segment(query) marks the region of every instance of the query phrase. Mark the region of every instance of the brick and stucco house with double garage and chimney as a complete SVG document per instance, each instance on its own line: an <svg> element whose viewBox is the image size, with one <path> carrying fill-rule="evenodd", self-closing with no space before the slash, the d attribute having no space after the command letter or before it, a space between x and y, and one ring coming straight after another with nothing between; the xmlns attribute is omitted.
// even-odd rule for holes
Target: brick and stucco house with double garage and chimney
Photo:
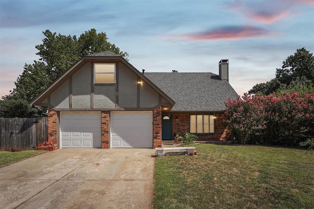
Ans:
<svg viewBox="0 0 314 209"><path fill-rule="evenodd" d="M48 107L58 148L156 148L195 133L223 139L224 101L236 98L229 61L210 72L144 73L109 51L83 56L31 102Z"/></svg>

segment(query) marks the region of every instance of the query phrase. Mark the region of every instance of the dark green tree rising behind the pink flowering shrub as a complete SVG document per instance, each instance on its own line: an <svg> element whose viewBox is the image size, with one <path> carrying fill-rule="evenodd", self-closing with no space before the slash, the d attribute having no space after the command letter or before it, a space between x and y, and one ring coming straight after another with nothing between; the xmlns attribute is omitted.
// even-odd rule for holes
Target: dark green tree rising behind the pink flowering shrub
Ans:
<svg viewBox="0 0 314 209"><path fill-rule="evenodd" d="M288 56L283 62L282 68L276 69L275 78L255 85L249 93L269 95L280 88L291 89L295 87L293 83L304 84L306 88L309 83L314 85L314 56L305 48L297 49L294 55Z"/></svg>

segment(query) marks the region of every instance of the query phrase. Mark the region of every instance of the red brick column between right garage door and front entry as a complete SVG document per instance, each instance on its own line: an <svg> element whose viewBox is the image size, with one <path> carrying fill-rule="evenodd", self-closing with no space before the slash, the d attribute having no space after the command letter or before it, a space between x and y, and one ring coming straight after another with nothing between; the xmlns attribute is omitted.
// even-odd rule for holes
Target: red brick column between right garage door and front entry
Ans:
<svg viewBox="0 0 314 209"><path fill-rule="evenodd" d="M153 148L161 147L161 107L153 111Z"/></svg>

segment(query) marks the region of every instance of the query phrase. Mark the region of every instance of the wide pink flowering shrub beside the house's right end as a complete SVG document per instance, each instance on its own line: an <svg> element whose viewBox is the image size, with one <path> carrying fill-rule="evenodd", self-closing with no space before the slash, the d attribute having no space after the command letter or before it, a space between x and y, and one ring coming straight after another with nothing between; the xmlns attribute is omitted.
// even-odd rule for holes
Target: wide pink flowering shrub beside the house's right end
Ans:
<svg viewBox="0 0 314 209"><path fill-rule="evenodd" d="M296 145L314 136L314 93L283 93L225 102L224 124L241 143Z"/></svg>

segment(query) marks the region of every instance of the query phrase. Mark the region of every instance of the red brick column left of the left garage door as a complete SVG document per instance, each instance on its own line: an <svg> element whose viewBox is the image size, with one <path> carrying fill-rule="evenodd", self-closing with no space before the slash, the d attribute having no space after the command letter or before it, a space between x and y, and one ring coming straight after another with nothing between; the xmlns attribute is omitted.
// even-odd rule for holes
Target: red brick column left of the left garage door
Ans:
<svg viewBox="0 0 314 209"><path fill-rule="evenodd" d="M48 108L48 142L58 145L57 111Z"/></svg>

